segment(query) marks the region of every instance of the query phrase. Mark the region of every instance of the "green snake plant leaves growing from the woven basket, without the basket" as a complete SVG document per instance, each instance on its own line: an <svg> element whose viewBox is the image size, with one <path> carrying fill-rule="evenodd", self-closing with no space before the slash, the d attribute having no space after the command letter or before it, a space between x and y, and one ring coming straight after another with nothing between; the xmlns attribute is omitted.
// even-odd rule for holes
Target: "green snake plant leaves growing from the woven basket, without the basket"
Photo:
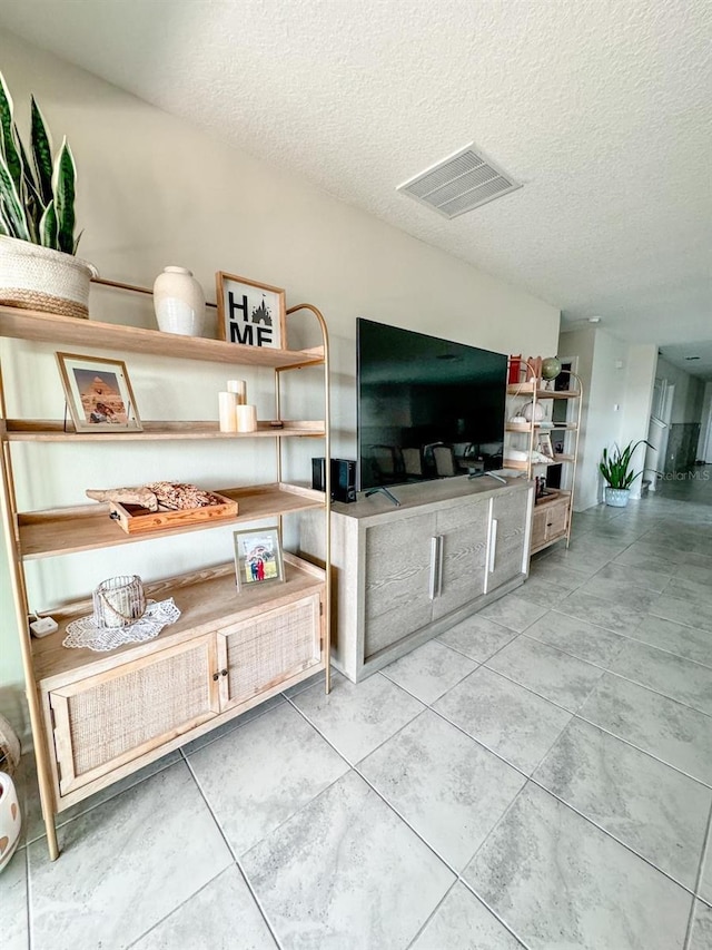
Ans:
<svg viewBox="0 0 712 950"><path fill-rule="evenodd" d="M76 254L77 168L67 139L52 157L39 106L31 99L30 155L13 118L12 97L0 72L0 234Z"/></svg>

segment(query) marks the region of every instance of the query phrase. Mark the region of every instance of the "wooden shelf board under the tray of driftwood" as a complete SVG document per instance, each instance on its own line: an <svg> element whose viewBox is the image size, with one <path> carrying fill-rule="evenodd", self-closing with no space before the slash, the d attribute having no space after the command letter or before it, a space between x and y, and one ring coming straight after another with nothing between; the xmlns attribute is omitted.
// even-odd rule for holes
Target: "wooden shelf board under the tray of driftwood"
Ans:
<svg viewBox="0 0 712 950"><path fill-rule="evenodd" d="M290 511L324 507L323 492L286 483L219 488L216 491L237 501L237 517L200 522L187 528L147 531L140 536L127 535L117 521L109 518L109 506L103 503L22 512L18 518L20 551L23 560L34 560L167 538L170 535L201 531L244 521L259 521L263 518L274 518Z"/></svg>

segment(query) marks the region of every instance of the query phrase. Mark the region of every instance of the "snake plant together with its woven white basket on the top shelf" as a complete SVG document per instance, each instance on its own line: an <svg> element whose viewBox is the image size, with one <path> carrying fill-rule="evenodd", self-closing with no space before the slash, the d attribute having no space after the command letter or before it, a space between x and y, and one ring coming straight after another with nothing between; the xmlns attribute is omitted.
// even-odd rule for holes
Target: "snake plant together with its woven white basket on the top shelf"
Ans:
<svg viewBox="0 0 712 950"><path fill-rule="evenodd" d="M33 96L26 150L0 72L0 304L89 316L89 282L97 271L75 256L76 183L67 139L52 154Z"/></svg>

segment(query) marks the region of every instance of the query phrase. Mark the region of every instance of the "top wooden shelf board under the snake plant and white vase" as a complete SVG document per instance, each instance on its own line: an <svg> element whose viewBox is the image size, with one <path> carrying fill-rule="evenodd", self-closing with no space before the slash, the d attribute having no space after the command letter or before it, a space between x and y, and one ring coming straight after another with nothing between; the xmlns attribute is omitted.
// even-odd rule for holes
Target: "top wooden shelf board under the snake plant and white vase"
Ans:
<svg viewBox="0 0 712 950"><path fill-rule="evenodd" d="M128 350L154 356L180 360L201 360L210 363L230 363L246 366L307 366L324 362L322 347L312 350L275 350L268 346L245 346L206 340L202 336L179 336L158 330L144 330L95 320L78 320L39 313L32 310L0 306L0 336L33 340L78 347ZM80 352L81 352L80 349Z"/></svg>

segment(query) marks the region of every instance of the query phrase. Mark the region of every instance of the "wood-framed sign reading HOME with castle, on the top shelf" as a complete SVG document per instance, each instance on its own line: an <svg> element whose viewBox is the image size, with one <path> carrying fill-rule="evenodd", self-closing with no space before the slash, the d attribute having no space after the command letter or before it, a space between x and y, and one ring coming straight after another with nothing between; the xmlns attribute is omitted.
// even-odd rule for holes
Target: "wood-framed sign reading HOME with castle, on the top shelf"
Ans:
<svg viewBox="0 0 712 950"><path fill-rule="evenodd" d="M218 271L218 336L227 343L286 349L286 295L281 287Z"/></svg>

